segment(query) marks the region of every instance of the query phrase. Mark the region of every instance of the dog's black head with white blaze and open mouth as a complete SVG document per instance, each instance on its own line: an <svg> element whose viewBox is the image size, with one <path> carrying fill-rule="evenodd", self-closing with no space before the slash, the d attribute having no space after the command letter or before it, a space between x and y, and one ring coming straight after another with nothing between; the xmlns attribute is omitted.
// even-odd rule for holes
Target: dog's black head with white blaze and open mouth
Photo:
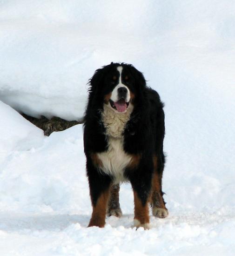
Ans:
<svg viewBox="0 0 235 256"><path fill-rule="evenodd" d="M89 100L107 104L115 113L125 113L146 86L143 74L130 64L111 63L97 69L89 80Z"/></svg>

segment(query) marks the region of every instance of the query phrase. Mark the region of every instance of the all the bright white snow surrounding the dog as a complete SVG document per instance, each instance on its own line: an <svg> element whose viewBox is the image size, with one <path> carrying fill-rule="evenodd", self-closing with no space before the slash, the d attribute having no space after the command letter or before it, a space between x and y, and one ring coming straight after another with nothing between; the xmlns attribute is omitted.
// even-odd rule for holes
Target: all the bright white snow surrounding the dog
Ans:
<svg viewBox="0 0 235 256"><path fill-rule="evenodd" d="M234 13L232 0L0 1L1 256L234 255ZM111 61L165 102L169 217L147 231L131 228L129 184L124 215L86 228L82 126L45 137L14 110L80 119Z"/></svg>

